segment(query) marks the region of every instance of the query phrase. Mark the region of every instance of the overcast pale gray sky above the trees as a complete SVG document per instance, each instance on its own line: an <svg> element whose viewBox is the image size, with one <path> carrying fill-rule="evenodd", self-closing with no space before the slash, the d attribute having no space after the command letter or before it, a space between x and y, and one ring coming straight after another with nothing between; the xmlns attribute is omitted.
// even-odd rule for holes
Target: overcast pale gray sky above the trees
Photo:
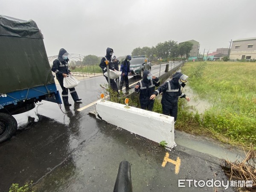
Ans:
<svg viewBox="0 0 256 192"><path fill-rule="evenodd" d="M48 56L117 57L137 47L194 39L200 52L256 37L256 0L0 0L0 15L34 20Z"/></svg>

